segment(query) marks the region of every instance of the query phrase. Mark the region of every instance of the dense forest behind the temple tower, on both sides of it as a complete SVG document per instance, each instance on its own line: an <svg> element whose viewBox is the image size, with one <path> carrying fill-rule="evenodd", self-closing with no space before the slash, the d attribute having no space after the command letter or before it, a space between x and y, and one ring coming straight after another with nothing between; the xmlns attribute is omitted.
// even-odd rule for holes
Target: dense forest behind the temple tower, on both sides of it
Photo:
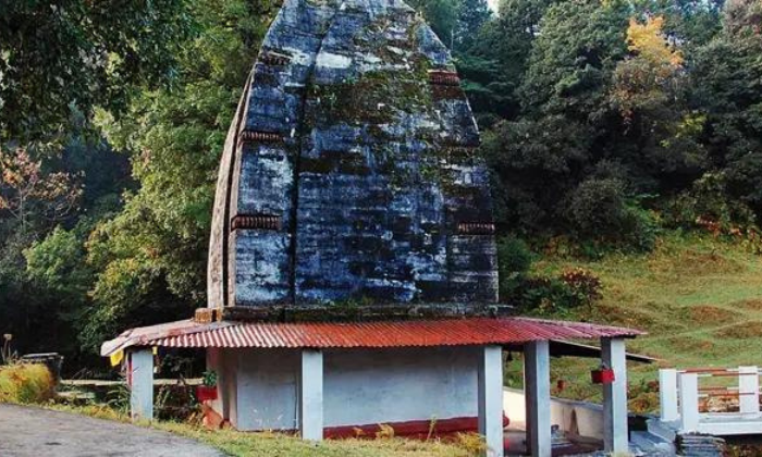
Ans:
<svg viewBox="0 0 762 457"><path fill-rule="evenodd" d="M205 305L216 168L278 11L97 4L0 5L0 333L79 366ZM594 257L710 231L762 249L762 2L411 5L482 131L504 300L527 246Z"/></svg>

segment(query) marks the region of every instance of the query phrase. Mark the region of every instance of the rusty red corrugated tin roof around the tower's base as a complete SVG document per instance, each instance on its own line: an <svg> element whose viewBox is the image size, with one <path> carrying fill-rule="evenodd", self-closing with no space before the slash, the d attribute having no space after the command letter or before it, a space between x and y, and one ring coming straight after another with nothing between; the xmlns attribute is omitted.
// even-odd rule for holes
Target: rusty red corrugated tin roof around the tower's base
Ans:
<svg viewBox="0 0 762 457"><path fill-rule="evenodd" d="M101 355L109 356L130 346L383 348L516 344L641 334L632 329L529 318L348 323L196 323L184 320L128 330L103 343Z"/></svg>

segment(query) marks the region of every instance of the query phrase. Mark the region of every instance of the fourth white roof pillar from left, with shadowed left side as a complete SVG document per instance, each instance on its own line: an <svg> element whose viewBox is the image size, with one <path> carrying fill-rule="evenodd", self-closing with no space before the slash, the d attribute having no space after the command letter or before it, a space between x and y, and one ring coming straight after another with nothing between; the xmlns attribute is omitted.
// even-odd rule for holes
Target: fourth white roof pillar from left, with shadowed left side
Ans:
<svg viewBox="0 0 762 457"><path fill-rule="evenodd" d="M551 457L551 356L548 341L524 345L527 446L532 457Z"/></svg>

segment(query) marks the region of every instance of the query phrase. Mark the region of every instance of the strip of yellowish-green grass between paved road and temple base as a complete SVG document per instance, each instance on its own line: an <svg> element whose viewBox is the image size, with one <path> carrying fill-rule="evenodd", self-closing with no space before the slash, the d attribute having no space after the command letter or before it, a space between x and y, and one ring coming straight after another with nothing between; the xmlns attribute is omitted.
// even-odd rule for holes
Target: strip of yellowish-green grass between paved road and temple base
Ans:
<svg viewBox="0 0 762 457"><path fill-rule="evenodd" d="M128 422L128 417L107 405L69 406L45 404L59 411L91 416L99 419ZM184 422L153 421L139 425L164 430L187 436L217 447L234 457L469 457L481 441L472 435L463 436L457 443L439 440L415 441L397 437L379 440L327 440L308 443L298 437L271 432L238 432L232 429L209 431L200 425Z"/></svg>

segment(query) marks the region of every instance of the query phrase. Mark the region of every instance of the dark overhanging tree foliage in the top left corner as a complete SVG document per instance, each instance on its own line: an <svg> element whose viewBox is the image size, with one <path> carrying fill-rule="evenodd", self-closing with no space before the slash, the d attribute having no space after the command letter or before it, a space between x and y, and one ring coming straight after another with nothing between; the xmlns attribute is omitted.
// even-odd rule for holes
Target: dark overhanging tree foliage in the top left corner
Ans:
<svg viewBox="0 0 762 457"><path fill-rule="evenodd" d="M72 111L119 112L135 85L172 78L184 0L0 3L0 143L65 135Z"/></svg>

